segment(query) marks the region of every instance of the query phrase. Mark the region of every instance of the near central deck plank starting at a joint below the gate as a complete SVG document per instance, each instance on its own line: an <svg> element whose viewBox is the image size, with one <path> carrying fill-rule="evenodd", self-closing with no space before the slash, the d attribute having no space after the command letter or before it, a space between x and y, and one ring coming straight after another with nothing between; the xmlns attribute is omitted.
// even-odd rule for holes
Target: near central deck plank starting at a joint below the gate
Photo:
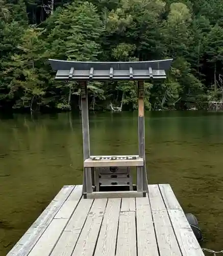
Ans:
<svg viewBox="0 0 223 256"><path fill-rule="evenodd" d="M119 216L117 256L136 256L136 220L134 211L123 211Z"/></svg>

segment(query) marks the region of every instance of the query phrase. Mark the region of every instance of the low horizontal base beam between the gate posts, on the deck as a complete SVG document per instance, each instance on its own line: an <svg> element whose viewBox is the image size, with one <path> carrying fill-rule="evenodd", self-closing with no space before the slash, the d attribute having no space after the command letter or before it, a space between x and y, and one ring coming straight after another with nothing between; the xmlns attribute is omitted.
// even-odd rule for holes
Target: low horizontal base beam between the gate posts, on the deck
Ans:
<svg viewBox="0 0 223 256"><path fill-rule="evenodd" d="M87 198L127 198L143 197L142 192L137 191L99 191L87 194Z"/></svg>

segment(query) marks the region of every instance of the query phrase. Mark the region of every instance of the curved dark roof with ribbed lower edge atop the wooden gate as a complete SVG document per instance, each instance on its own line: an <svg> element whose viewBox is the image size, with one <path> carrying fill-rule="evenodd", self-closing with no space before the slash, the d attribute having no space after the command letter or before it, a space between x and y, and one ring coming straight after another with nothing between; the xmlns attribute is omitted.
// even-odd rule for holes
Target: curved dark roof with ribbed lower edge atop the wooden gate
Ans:
<svg viewBox="0 0 223 256"><path fill-rule="evenodd" d="M172 59L129 62L92 62L49 59L56 79L148 80L166 78Z"/></svg>

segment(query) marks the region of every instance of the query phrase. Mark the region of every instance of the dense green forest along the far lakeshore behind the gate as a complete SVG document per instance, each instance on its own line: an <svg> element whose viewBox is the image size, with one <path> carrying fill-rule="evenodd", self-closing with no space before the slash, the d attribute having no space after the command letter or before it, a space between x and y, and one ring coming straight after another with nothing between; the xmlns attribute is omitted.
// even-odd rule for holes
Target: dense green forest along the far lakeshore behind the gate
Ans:
<svg viewBox="0 0 223 256"><path fill-rule="evenodd" d="M207 109L222 102L222 0L0 0L0 111L80 109L76 82L55 81L48 58L174 58L167 79L145 83L145 109ZM137 109L133 81L91 82L89 108Z"/></svg>

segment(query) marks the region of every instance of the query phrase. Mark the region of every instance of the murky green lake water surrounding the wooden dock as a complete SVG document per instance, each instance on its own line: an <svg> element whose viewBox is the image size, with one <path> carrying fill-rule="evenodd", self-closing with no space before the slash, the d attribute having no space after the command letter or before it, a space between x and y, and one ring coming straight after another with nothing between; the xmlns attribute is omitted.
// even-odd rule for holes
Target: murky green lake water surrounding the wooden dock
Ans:
<svg viewBox="0 0 223 256"><path fill-rule="evenodd" d="M90 115L91 153L137 154L137 113ZM79 116L0 119L0 255L4 256L66 184L82 184ZM223 114L147 112L150 183L170 183L199 219L204 247L223 243Z"/></svg>

